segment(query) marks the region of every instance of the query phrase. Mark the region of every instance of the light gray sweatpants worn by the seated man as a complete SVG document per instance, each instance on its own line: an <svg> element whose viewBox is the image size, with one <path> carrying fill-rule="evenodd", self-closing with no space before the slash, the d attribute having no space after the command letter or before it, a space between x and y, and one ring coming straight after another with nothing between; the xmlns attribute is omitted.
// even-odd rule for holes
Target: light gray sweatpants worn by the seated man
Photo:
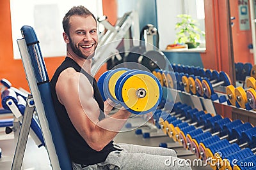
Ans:
<svg viewBox="0 0 256 170"><path fill-rule="evenodd" d="M177 158L174 150L160 147L114 144L122 151L109 153L104 162L84 169L191 169L188 162ZM73 169L82 169L80 164L72 163Z"/></svg>

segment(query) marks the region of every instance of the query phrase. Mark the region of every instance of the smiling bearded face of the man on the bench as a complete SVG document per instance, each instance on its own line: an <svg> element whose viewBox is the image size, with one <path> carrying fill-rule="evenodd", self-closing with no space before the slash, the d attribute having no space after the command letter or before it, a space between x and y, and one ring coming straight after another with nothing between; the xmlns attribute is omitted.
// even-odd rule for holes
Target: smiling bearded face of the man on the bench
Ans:
<svg viewBox="0 0 256 170"><path fill-rule="evenodd" d="M98 45L97 24L92 16L70 17L69 43L72 52L77 57L90 59Z"/></svg>

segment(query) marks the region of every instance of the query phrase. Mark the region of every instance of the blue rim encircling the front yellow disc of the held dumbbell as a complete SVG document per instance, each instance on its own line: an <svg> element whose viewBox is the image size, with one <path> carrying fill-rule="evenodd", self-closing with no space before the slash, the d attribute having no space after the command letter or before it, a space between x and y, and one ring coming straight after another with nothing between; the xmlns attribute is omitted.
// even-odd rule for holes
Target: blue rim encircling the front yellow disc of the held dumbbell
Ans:
<svg viewBox="0 0 256 170"><path fill-rule="evenodd" d="M129 108L125 103L124 103L124 99L122 97L122 88L124 87L124 83L126 80L128 80L128 78L131 78L132 76L136 76L136 74L146 74L148 76L150 76L151 78L153 78L154 81L156 81L157 85L158 85L158 89L159 89L159 98L157 100L157 103L149 110L145 110L145 111L135 111L135 110L132 110L131 108ZM134 82L135 83L135 82ZM154 74L152 73L149 73L147 71L133 71L129 74L127 74L123 79L122 81L120 82L120 85L119 85L119 90L118 90L118 96L119 96L119 99L120 99L120 102L122 104L122 106L124 106L124 108L128 111L130 111L131 113L134 113L134 114L146 114L146 113L149 113L150 111L155 111L158 104L160 103L161 101L161 98L162 98L162 94L163 94L163 90L162 90L162 87L161 87L161 84L159 82L159 80L157 80L156 76L154 76Z"/></svg>

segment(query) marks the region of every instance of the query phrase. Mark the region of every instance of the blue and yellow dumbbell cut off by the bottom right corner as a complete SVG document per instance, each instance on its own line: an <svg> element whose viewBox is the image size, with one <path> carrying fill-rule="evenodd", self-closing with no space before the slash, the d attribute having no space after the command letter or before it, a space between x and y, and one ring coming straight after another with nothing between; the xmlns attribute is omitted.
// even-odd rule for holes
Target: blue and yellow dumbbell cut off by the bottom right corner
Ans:
<svg viewBox="0 0 256 170"><path fill-rule="evenodd" d="M256 166L256 155L248 157L246 159L238 160L236 165L234 165L234 170L247 170L255 169Z"/></svg>

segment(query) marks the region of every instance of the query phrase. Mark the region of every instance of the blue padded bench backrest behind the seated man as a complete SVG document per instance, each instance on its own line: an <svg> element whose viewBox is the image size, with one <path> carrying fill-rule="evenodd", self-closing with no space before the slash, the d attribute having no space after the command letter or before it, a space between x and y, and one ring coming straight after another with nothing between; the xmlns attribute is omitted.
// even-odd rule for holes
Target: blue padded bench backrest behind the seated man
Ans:
<svg viewBox="0 0 256 170"><path fill-rule="evenodd" d="M32 27L25 25L21 28L21 31L26 41L29 55L31 57L31 63L35 73L37 87L40 92L42 103L44 105L45 117L47 118L49 129L52 134L52 142L54 143L54 147L56 149L60 168L72 169L71 160L63 138L63 133L61 132L60 125L52 104L51 87L45 68L44 58L42 57L40 50L39 41Z"/></svg>

